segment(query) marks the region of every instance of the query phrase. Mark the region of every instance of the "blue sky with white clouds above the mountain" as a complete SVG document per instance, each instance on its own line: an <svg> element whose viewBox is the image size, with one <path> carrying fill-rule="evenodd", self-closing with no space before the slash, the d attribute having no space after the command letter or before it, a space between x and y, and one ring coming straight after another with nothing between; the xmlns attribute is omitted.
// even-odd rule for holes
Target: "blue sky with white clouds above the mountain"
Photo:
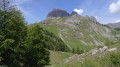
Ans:
<svg viewBox="0 0 120 67"><path fill-rule="evenodd" d="M120 0L11 0L21 10L29 24L45 20L47 14L58 8L82 16L94 16L102 23L120 22Z"/></svg>

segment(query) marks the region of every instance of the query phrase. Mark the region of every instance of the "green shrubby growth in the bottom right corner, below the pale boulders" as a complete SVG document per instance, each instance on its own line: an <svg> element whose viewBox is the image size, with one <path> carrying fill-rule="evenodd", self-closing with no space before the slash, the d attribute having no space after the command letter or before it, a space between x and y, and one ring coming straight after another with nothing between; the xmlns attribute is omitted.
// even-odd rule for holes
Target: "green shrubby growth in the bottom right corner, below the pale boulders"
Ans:
<svg viewBox="0 0 120 67"><path fill-rule="evenodd" d="M103 57L87 57L84 61L84 67L120 67L120 52L111 52Z"/></svg>

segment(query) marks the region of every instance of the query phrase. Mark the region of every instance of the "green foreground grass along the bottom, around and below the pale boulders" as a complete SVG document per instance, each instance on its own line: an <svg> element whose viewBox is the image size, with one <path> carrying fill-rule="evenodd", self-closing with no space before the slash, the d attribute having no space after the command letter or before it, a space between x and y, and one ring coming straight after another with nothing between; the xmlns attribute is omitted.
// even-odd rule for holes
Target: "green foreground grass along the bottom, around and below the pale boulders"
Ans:
<svg viewBox="0 0 120 67"><path fill-rule="evenodd" d="M119 67L120 63L120 44L109 46L109 48L117 47L117 51L97 53L95 55L84 55L84 60L81 62L77 57L70 62L65 63L65 59L74 54L60 51L50 51L51 66L53 67Z"/></svg>

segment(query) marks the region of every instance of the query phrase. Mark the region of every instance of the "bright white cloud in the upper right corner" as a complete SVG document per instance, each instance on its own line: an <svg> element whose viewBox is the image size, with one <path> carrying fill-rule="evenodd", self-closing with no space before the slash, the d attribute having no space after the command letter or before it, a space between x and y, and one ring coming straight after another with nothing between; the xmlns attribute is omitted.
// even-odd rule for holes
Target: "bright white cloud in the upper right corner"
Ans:
<svg viewBox="0 0 120 67"><path fill-rule="evenodd" d="M116 3L110 4L109 10L111 13L120 13L120 0L118 0Z"/></svg>

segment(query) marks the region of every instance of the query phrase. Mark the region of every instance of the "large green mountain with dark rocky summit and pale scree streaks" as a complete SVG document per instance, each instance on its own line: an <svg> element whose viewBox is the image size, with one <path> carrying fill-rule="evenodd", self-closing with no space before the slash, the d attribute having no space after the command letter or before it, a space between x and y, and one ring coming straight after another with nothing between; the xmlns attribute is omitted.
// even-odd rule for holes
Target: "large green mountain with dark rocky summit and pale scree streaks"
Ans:
<svg viewBox="0 0 120 67"><path fill-rule="evenodd" d="M55 16L53 16L54 11ZM61 12L66 13L66 15L61 14ZM53 15L50 16L51 13ZM54 9L48 14L49 18L41 21L39 25L59 36L70 49L89 50L114 41L112 30L108 26L100 24L95 17L74 14L76 13L70 15L64 10Z"/></svg>

